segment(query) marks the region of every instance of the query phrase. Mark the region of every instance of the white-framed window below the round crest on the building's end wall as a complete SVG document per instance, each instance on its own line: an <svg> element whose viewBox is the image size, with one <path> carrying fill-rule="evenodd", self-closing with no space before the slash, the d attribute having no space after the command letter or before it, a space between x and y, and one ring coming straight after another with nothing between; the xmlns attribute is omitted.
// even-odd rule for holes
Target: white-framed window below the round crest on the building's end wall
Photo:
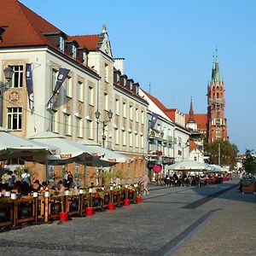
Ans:
<svg viewBox="0 0 256 256"><path fill-rule="evenodd" d="M22 108L7 108L7 126L10 130L21 130Z"/></svg>

